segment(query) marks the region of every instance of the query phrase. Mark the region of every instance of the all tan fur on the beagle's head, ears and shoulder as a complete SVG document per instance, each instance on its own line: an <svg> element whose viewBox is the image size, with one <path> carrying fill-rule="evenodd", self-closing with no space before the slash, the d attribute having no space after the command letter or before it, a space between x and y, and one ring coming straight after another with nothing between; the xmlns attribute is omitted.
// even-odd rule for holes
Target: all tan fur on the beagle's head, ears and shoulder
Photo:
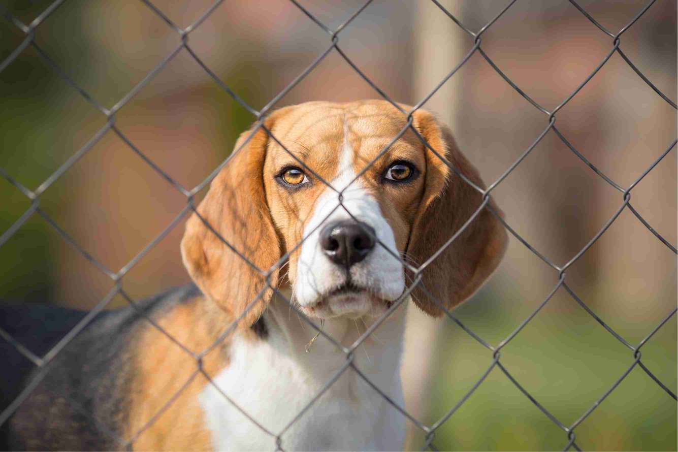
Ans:
<svg viewBox="0 0 678 452"><path fill-rule="evenodd" d="M163 319L167 329L176 332L180 342L201 350L215 337L214 327L210 327L203 316L226 325L222 322L230 323L241 315L266 287L261 274L247 266L214 232L264 271L290 252L289 268L282 270L281 278L277 271L273 272L271 283L294 284L300 253L296 245L302 240L315 201L327 188L313 172L327 182L338 176L344 140L353 149L355 172L368 167L360 183L378 200L393 229L398 250L416 264L430 258L470 218L481 205L482 197L426 149L412 130L408 129L377 158L405 124L405 115L391 104L378 100L350 104L308 102L273 113L266 120L266 127L292 155L266 131L259 130L216 176L197 209L214 231L194 213L186 224L182 240L184 264L207 300L195 300L174 308ZM484 187L477 170L456 148L447 127L422 110L414 114L414 127L466 178ZM250 133L241 135L236 149ZM406 185L382 184L386 168L399 159L412 161L420 170L420 176ZM302 168L312 183L294 191L281 186L275 176L287 165ZM492 201L490 205L500 212ZM424 285L436 300L451 308L482 285L505 249L504 228L490 211L483 209L458 239L424 270ZM413 295L422 310L433 316L441 314L437 303L424 291L418 288ZM244 317L241 333L247 334L245 327L258 319L270 298L268 289ZM252 340L256 340L254 336ZM136 403L130 432L144 426L195 371L195 360L155 329L148 329L144 334L139 350L138 365L145 377L139 380L134 394ZM205 369L214 375L227 364L227 359L215 350L205 358ZM140 436L135 448L209 449L210 436L197 401L197 394L205 383L201 375L196 377Z"/></svg>

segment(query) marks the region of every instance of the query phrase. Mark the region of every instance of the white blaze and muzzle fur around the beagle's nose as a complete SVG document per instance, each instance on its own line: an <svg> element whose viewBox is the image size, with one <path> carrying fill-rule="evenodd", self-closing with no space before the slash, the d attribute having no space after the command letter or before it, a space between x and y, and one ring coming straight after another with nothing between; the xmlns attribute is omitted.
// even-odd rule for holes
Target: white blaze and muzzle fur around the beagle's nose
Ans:
<svg viewBox="0 0 678 452"><path fill-rule="evenodd" d="M348 212L351 212L356 220L372 226L378 239L367 257L351 266L351 282L389 301L397 299L405 288L401 262L380 245L382 243L392 253L399 255L393 229L384 218L378 201L365 190L361 180L351 183L356 176L353 155L344 126L344 144L337 175L330 181L330 185L337 191L348 186L343 192L345 209L339 204L339 194L327 187L317 199L311 218L304 227L306 239L302 243L294 283L294 297L301 306L309 306L319 301L323 295L346 283L344 268L327 258L321 248L319 237L327 224L351 219Z"/></svg>

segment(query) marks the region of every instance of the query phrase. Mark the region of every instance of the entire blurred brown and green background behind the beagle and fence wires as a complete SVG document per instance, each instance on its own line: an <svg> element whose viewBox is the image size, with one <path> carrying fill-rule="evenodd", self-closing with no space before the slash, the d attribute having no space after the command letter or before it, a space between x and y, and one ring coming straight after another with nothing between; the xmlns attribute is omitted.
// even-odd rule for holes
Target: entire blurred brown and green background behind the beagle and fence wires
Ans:
<svg viewBox="0 0 678 452"><path fill-rule="evenodd" d="M29 23L49 1L3 0ZM302 4L334 28L361 1ZM441 2L471 30L503 2ZM500 4L501 3L501 4ZM580 1L616 33L645 0ZM157 0L178 26L195 22L208 0ZM621 39L621 48L668 98L677 97L677 5L659 0ZM35 31L35 41L77 85L110 108L180 43L137 0L70 0ZM24 34L0 18L0 61ZM287 0L226 2L190 35L191 47L224 83L262 108L330 45L329 36ZM432 2L375 1L340 34L340 47L378 87L415 104L473 47L473 39ZM483 35L482 48L547 110L565 99L612 48L612 39L564 0L519 1ZM377 98L331 52L278 106L307 100ZM0 167L37 188L106 123L37 50L28 46L0 73ZM548 117L523 99L478 53L424 108L449 123L462 151L490 183L534 142ZM557 113L563 136L612 180L629 186L676 137L676 110L618 54ZM191 189L231 152L254 118L182 50L115 115L139 150ZM631 203L669 243L677 242L676 150L634 188ZM506 222L547 258L570 260L622 205L612 188L549 132L494 191ZM0 178L0 234L30 207ZM41 208L107 268L132 260L180 213L186 198L113 131L44 194ZM179 222L123 279L136 300L188 282ZM567 270L567 283L631 344L676 306L676 256L624 209ZM39 215L0 247L0 299L92 308L113 287ZM511 238L498 272L454 311L490 344L507 337L544 300L557 272ZM124 306L117 297L110 308ZM492 363L492 353L451 321L412 310L403 377L407 409L424 424L440 419ZM677 390L673 316L643 346L643 363ZM605 331L564 289L502 350L502 363L563 424L572 424L633 363L633 352ZM676 450L676 403L635 367L576 429L584 449ZM414 430L413 430L414 431ZM420 435L413 433L413 449ZM495 368L438 430L439 449L561 449L566 435Z"/></svg>

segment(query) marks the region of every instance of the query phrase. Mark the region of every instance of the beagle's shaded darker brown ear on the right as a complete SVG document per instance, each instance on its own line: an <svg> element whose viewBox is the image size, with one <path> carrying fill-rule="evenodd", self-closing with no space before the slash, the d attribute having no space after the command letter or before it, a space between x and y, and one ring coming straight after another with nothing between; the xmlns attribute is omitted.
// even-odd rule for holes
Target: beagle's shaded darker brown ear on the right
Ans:
<svg viewBox="0 0 678 452"><path fill-rule="evenodd" d="M452 167L480 188L485 188L477 169L456 147L450 129L423 110L415 112L414 127ZM475 188L462 180L426 146L424 153L424 194L406 250L407 256L416 265L423 264L439 251L483 202L482 195ZM490 206L502 214L494 201L490 201ZM494 272L506 251L506 243L504 226L485 207L459 237L422 271L422 283L426 290L420 287L414 289L413 300L432 316L439 316L442 310L426 291L448 309L463 302Z"/></svg>

